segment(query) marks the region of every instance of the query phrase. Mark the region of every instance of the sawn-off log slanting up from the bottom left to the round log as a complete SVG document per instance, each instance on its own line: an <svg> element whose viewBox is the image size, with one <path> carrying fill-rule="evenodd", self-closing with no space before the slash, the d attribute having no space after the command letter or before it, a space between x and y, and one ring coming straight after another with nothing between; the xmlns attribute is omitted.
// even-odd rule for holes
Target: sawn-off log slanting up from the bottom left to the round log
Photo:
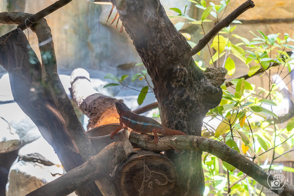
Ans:
<svg viewBox="0 0 294 196"><path fill-rule="evenodd" d="M27 196L65 196L93 180L110 175L117 165L125 161L134 149L129 140L114 142L82 165L27 194ZM104 186L107 186L106 184ZM109 195L111 192L108 193Z"/></svg>

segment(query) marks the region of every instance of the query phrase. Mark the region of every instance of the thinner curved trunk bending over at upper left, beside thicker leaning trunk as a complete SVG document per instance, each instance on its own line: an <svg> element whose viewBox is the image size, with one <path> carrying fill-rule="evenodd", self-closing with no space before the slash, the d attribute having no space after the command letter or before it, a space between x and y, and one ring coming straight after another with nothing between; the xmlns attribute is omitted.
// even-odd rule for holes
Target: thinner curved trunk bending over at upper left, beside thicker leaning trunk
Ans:
<svg viewBox="0 0 294 196"><path fill-rule="evenodd" d="M25 19L33 16L22 12L2 12L0 13L1 24L21 24ZM40 72L41 82L46 84L46 90L50 94L55 108L64 120L66 129L74 139L78 152L84 161L96 155L96 150L87 137L82 124L78 120L71 100L67 96L60 78L57 74L57 64L52 40L51 29L45 19L31 26L31 30L36 33L41 52L42 66ZM39 61L37 58L34 61Z"/></svg>

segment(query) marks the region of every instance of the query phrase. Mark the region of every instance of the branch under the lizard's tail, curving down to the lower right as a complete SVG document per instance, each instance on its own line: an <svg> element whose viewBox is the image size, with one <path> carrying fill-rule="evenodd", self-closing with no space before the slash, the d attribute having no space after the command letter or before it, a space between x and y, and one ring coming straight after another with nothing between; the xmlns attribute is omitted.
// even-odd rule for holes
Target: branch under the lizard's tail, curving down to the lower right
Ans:
<svg viewBox="0 0 294 196"><path fill-rule="evenodd" d="M238 168L240 171L249 175L261 185L268 187L269 189L270 187L268 186L267 180L273 180L273 176L269 176L263 168L245 158L245 156L241 155L236 150L233 150L225 143L210 138L192 135L161 136L157 145L154 145L153 136L139 134L132 131L129 140L134 145L134 148L142 148L143 150L161 152L173 149L169 146L172 145L178 150L193 150L211 153ZM282 188L272 191L278 195L294 195L294 186L286 183Z"/></svg>

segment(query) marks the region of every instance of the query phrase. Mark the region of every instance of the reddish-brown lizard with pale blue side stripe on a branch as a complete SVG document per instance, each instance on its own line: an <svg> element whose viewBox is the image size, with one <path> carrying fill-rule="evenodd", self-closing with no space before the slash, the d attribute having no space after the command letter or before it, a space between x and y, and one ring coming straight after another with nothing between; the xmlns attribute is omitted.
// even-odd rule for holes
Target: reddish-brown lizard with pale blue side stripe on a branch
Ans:
<svg viewBox="0 0 294 196"><path fill-rule="evenodd" d="M139 133L153 133L154 144L157 144L157 133L162 135L186 135L182 131L166 128L152 118L133 113L124 103L115 102L115 106L119 115L119 127L111 133L111 139L118 131L127 127Z"/></svg>

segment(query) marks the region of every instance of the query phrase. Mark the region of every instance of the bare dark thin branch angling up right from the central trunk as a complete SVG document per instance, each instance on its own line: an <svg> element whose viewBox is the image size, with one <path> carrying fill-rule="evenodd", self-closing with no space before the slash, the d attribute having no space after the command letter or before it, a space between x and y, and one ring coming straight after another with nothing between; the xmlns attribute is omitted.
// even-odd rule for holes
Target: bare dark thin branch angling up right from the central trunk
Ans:
<svg viewBox="0 0 294 196"><path fill-rule="evenodd" d="M222 30L224 27L229 26L238 16L240 16L246 10L253 8L254 6L255 5L253 1L251 0L248 0L240 5L222 21L216 24L216 26L214 26L213 29L211 29L211 31L209 31L201 40L199 40L198 44L191 49L191 55L193 56L201 51L220 30Z"/></svg>

